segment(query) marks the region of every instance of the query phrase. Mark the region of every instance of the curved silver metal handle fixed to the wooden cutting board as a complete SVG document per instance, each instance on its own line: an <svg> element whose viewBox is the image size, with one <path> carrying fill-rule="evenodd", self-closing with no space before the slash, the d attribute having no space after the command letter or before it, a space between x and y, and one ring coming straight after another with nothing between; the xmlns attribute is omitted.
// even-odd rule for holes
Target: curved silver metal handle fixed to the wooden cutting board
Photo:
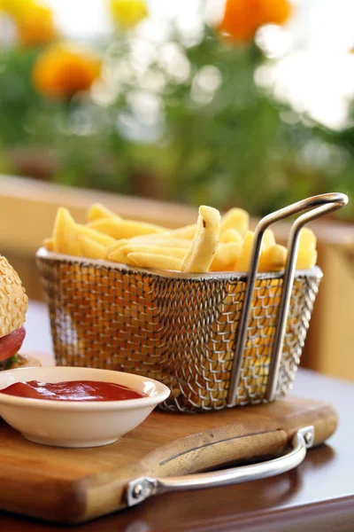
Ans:
<svg viewBox="0 0 354 532"><path fill-rule="evenodd" d="M127 485L127 505L134 506L152 495L160 495L171 491L188 489L206 489L240 484L241 482L257 481L277 474L285 473L303 462L306 450L312 447L314 427L304 426L292 439L292 447L288 454L281 458L273 458L260 464L242 465L224 471L212 473L189 474L178 477L153 479L140 477Z"/></svg>

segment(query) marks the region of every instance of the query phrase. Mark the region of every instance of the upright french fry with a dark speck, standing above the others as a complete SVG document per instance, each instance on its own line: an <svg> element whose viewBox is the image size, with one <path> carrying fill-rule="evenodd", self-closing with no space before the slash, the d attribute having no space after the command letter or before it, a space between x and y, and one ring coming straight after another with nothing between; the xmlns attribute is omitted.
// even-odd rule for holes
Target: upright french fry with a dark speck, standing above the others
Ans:
<svg viewBox="0 0 354 532"><path fill-rule="evenodd" d="M181 264L182 271L208 271L219 244L220 213L216 208L199 207L196 235Z"/></svg>

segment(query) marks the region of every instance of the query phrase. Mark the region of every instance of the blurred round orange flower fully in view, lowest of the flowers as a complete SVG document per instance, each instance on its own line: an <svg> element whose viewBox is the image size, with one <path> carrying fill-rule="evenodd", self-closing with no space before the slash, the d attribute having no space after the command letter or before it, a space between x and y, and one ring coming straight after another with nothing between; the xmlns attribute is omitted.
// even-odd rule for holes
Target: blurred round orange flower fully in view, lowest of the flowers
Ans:
<svg viewBox="0 0 354 532"><path fill-rule="evenodd" d="M100 62L88 51L53 44L36 60L32 79L44 96L66 99L89 90L99 74Z"/></svg>

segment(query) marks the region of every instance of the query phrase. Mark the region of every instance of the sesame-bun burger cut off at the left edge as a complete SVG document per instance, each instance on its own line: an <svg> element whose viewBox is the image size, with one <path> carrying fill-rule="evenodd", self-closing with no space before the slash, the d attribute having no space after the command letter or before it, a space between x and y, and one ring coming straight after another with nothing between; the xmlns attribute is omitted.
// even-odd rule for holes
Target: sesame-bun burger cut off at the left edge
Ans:
<svg viewBox="0 0 354 532"><path fill-rule="evenodd" d="M19 355L25 340L28 298L18 273L0 255L0 371L40 365L33 357Z"/></svg>

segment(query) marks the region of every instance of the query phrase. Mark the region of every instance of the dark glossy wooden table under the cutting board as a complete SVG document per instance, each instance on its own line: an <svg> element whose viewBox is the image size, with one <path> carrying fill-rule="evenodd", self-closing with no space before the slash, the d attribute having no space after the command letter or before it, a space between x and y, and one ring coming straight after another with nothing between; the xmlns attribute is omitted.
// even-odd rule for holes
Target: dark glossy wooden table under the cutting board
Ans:
<svg viewBox="0 0 354 532"><path fill-rule="evenodd" d="M41 303L32 302L27 318L26 350L52 364L49 320ZM335 353L334 353L335 356ZM309 451L296 470L234 487L152 498L124 512L75 527L78 532L262 531L352 532L354 530L354 386L300 370L293 392L332 403L339 413L336 434ZM38 493L38 497L41 494ZM38 520L0 514L0 530L67 530Z"/></svg>

